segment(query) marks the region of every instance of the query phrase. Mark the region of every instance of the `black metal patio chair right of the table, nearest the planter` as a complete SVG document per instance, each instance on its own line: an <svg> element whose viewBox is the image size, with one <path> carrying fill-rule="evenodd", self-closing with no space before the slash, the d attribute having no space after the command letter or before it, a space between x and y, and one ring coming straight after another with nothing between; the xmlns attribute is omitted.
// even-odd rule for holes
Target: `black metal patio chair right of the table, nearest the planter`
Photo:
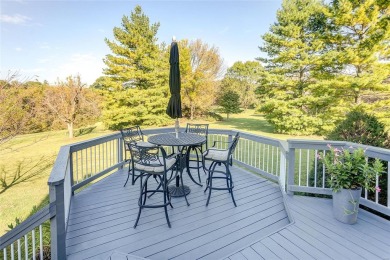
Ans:
<svg viewBox="0 0 390 260"><path fill-rule="evenodd" d="M204 170L207 171L207 181L206 181L206 189L204 192L209 190L209 196L207 198L206 206L209 205L210 197L211 197L211 190L228 190L230 195L232 196L233 204L235 207L237 207L236 201L234 200L233 195L233 177L230 172L229 166L233 165L233 153L236 149L236 146L238 144L238 141L240 139L240 134L237 133L234 137L233 141L231 142L222 142L222 141L214 141L213 147L208 149L206 152L203 153L203 165L206 165L206 161L210 161L211 164L208 169L204 166ZM217 149L216 144L220 143L228 143L227 149ZM216 170L217 166L225 166L225 171L223 170ZM213 180L226 180L226 187L221 186L221 183L219 185L213 186Z"/></svg>

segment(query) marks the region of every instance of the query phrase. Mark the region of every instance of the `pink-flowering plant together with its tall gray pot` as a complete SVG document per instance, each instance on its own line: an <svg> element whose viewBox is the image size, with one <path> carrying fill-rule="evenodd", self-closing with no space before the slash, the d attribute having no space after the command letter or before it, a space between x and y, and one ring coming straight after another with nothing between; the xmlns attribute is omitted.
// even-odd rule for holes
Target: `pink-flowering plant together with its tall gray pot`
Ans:
<svg viewBox="0 0 390 260"><path fill-rule="evenodd" d="M379 192L380 188L375 186L376 177L383 172L384 166L379 159L368 160L361 148L353 150L350 147L350 151L331 145L328 147L330 150L319 157L329 174L333 216L343 223L354 224L357 221L362 188Z"/></svg>

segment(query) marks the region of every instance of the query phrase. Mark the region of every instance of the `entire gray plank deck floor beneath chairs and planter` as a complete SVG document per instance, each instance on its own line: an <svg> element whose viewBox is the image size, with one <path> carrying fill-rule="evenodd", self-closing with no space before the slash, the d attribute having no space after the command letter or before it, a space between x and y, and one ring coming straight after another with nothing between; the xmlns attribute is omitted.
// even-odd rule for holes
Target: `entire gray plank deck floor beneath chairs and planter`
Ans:
<svg viewBox="0 0 390 260"><path fill-rule="evenodd" d="M295 221L290 223L278 185L241 168L233 170L238 207L226 191L213 191L206 207L204 187L185 176L191 205L173 198L174 208L168 210L172 228L163 209L145 209L133 229L139 184L123 187L124 171L107 176L74 196L68 259L389 258L390 221L360 209L358 223L345 225L333 218L329 199L286 196ZM150 201L157 202L157 196Z"/></svg>

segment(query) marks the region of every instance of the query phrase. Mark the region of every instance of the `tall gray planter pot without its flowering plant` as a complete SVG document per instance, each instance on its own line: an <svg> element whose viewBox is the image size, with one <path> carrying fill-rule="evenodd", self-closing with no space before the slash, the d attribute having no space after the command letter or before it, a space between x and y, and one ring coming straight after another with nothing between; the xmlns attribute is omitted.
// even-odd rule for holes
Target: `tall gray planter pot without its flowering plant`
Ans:
<svg viewBox="0 0 390 260"><path fill-rule="evenodd" d="M333 192L333 216L340 222L355 224L361 193L362 188L341 189L338 192Z"/></svg>

